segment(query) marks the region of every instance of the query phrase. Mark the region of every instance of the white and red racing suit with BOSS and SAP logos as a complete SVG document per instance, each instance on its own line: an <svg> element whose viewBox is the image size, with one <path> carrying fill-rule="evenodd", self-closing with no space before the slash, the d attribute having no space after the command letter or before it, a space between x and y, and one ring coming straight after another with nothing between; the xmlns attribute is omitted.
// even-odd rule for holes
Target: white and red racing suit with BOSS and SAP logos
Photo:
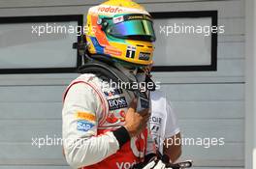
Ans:
<svg viewBox="0 0 256 169"><path fill-rule="evenodd" d="M129 169L154 153L147 128L130 138L122 127L133 92L112 87L95 74L74 80L64 94L63 148L73 168Z"/></svg>

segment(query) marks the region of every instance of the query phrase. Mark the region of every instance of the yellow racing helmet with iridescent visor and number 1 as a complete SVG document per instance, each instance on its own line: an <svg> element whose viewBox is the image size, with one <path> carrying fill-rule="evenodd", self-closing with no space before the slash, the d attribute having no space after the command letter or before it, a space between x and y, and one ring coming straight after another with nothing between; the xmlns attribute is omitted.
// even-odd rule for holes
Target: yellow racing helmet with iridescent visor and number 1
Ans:
<svg viewBox="0 0 256 169"><path fill-rule="evenodd" d="M86 41L90 54L134 66L152 64L155 34L150 14L131 0L110 0L89 9Z"/></svg>

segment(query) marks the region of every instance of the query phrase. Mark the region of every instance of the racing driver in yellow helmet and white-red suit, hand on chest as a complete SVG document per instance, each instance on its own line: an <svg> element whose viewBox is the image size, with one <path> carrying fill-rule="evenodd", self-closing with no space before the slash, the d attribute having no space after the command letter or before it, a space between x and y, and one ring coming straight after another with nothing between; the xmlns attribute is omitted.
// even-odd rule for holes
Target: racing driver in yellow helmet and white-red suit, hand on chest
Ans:
<svg viewBox="0 0 256 169"><path fill-rule="evenodd" d="M131 0L110 0L89 9L86 27L81 75L63 99L65 157L73 168L129 169L155 153L150 86L142 92L130 85L152 82L138 77L152 64L152 19Z"/></svg>

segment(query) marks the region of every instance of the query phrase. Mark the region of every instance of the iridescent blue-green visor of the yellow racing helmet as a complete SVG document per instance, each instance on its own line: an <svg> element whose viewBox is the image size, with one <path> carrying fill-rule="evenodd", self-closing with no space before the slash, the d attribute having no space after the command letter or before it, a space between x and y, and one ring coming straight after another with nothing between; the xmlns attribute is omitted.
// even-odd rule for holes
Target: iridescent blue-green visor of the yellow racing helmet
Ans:
<svg viewBox="0 0 256 169"><path fill-rule="evenodd" d="M116 38L154 42L152 21L146 19L127 20L109 27L107 32Z"/></svg>

